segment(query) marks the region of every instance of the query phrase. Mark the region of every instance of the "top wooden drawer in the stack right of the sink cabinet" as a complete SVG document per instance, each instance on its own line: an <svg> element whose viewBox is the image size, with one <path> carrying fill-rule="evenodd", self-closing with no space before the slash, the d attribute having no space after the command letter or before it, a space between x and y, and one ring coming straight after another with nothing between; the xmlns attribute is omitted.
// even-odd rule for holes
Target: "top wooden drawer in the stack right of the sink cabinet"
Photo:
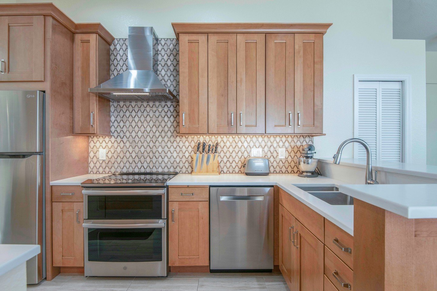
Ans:
<svg viewBox="0 0 437 291"><path fill-rule="evenodd" d="M325 219L325 245L354 269L354 237L328 219Z"/></svg>

